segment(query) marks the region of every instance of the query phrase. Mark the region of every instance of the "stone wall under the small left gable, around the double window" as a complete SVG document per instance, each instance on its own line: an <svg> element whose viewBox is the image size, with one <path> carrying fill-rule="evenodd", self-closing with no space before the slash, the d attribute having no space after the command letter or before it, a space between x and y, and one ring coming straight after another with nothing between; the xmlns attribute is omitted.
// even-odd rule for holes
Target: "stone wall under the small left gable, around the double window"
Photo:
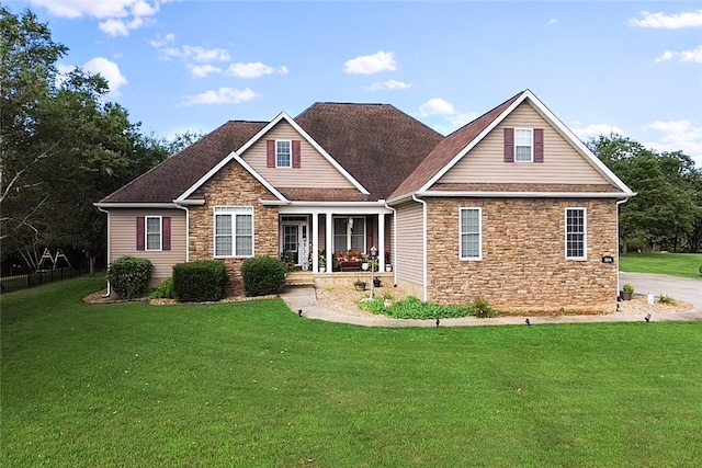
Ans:
<svg viewBox="0 0 702 468"><path fill-rule="evenodd" d="M278 208L260 203L275 197L239 163L229 162L190 198L205 199L204 206L190 208L191 261L214 259L215 206L253 206L253 254L278 258ZM245 260L225 259L229 274L229 295L244 295L241 263Z"/></svg>

